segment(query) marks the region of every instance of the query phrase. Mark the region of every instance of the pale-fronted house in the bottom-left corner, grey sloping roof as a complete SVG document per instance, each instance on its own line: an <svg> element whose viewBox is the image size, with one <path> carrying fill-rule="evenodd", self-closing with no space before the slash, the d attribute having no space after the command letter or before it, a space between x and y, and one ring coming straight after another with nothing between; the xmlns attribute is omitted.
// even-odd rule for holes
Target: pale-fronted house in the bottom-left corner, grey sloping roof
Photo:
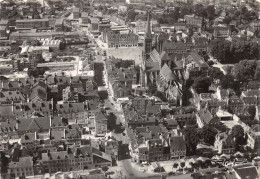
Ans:
<svg viewBox="0 0 260 179"><path fill-rule="evenodd" d="M33 176L33 157L20 157L19 161L9 163L8 174L11 177Z"/></svg>

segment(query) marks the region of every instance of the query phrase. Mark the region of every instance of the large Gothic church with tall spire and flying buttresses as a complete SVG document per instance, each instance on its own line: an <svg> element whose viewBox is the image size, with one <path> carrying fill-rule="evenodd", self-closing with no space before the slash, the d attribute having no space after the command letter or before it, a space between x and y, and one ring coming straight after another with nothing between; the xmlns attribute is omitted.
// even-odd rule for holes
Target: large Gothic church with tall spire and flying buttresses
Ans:
<svg viewBox="0 0 260 179"><path fill-rule="evenodd" d="M182 86L184 83L185 54L163 51L167 43L165 33L152 35L150 13L144 36L142 63L140 68L140 83L142 87L156 87L166 94L166 98L176 105L182 104ZM153 49L153 39L156 47Z"/></svg>

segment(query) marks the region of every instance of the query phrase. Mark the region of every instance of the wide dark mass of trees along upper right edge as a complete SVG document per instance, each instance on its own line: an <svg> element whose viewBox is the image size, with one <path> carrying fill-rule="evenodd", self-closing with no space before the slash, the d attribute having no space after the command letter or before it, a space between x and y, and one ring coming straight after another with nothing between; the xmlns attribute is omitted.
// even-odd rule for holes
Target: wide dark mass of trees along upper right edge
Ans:
<svg viewBox="0 0 260 179"><path fill-rule="evenodd" d="M218 39L210 42L210 53L221 63L234 64L244 59L258 59L259 49L257 43L251 41Z"/></svg>

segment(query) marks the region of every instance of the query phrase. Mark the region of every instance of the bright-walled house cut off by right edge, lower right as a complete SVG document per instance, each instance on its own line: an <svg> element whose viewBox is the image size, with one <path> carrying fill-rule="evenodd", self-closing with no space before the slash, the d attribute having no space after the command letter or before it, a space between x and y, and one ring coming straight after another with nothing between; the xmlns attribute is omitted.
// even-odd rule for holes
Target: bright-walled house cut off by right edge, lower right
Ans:
<svg viewBox="0 0 260 179"><path fill-rule="evenodd" d="M253 126L247 133L247 145L254 151L260 152L260 125Z"/></svg>

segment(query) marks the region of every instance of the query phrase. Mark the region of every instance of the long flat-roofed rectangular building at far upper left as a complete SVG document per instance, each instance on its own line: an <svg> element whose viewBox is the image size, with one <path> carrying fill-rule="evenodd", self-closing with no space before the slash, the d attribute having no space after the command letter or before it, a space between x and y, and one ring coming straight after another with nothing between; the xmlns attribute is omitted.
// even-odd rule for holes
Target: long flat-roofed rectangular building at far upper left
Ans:
<svg viewBox="0 0 260 179"><path fill-rule="evenodd" d="M16 20L16 29L47 29L49 19L22 19Z"/></svg>

